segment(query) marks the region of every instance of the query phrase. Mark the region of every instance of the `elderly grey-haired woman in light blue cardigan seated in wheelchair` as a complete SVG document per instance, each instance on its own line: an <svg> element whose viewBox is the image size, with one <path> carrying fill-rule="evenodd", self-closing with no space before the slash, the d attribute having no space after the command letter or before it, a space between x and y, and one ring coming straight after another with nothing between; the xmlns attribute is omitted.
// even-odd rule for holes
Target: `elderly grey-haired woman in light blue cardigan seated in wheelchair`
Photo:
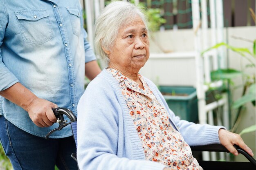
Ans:
<svg viewBox="0 0 256 170"><path fill-rule="evenodd" d="M97 18L95 47L108 62L78 105L77 158L81 170L200 170L189 145L221 143L237 155L239 135L220 126L180 120L153 82L139 74L149 57L143 13L110 3Z"/></svg>

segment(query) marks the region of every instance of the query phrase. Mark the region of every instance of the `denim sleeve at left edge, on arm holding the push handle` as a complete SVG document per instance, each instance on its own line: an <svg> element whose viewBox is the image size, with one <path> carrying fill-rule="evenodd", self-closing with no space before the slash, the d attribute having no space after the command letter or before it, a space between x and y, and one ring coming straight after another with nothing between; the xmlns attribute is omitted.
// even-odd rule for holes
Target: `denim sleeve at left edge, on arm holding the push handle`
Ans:
<svg viewBox="0 0 256 170"><path fill-rule="evenodd" d="M8 24L8 14L5 10L5 5L0 0L0 91L3 91L13 84L19 82L18 79L9 71L9 69L4 65L2 56L2 44L5 34L5 29Z"/></svg>

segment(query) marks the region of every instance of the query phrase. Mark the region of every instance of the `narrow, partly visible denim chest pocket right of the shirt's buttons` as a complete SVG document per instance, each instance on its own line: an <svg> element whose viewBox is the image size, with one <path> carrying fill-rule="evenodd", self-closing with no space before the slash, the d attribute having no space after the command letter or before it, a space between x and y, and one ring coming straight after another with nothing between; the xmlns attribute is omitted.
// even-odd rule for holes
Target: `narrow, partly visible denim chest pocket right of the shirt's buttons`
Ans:
<svg viewBox="0 0 256 170"><path fill-rule="evenodd" d="M67 7L67 11L70 13L70 21L72 24L73 33L79 36L81 31L81 13L76 7Z"/></svg>

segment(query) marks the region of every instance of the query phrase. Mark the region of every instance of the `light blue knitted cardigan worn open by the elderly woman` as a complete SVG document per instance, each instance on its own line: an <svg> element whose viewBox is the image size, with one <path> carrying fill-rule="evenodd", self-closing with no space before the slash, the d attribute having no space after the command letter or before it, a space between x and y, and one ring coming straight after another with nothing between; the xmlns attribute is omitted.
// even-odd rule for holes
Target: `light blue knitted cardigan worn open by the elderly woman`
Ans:
<svg viewBox="0 0 256 170"><path fill-rule="evenodd" d="M220 143L220 126L180 120L168 108L153 82L146 79L170 122L189 145ZM78 104L77 159L80 170L162 170L165 165L146 161L119 84L103 70L86 88Z"/></svg>

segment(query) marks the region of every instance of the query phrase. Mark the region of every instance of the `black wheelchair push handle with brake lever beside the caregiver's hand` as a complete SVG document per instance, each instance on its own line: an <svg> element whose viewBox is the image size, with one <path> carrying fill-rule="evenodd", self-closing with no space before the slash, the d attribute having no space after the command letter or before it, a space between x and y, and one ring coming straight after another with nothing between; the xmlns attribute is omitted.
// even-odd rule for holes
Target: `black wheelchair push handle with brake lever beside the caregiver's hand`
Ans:
<svg viewBox="0 0 256 170"><path fill-rule="evenodd" d="M59 126L58 126L58 128L55 128L55 129L51 130L50 132L48 132L47 135L45 136L45 139L48 139L49 135L51 135L56 130L61 130L65 126L71 124L71 122L76 121L76 115L74 115L74 113L67 108L54 108L54 109L52 109L52 111L57 118L56 123L58 123ZM63 115L66 115L70 119L70 122L67 122L67 120L64 119Z"/></svg>

